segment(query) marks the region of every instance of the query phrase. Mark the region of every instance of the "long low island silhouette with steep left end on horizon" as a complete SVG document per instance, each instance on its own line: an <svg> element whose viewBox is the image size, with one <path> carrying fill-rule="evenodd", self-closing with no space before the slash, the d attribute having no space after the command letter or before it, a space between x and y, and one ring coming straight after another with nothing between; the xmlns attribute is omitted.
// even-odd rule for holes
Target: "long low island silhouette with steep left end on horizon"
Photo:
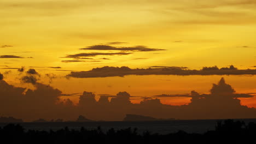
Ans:
<svg viewBox="0 0 256 144"><path fill-rule="evenodd" d="M141 115L132 115L132 114L127 114L123 121L172 121L175 120L175 118L170 118L170 119L159 119L159 118L154 118L154 117L148 117L148 116L141 116Z"/></svg>

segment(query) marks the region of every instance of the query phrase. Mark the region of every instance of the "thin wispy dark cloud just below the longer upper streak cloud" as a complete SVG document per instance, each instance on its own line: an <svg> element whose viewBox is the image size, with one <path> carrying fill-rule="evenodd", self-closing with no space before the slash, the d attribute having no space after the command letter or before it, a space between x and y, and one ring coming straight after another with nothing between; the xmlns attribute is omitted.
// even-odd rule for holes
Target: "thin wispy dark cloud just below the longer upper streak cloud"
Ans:
<svg viewBox="0 0 256 144"><path fill-rule="evenodd" d="M130 55L130 54L131 54L131 52L114 52L114 53L92 52L92 53L78 53L75 55L67 55L65 58L84 59L85 57Z"/></svg>

